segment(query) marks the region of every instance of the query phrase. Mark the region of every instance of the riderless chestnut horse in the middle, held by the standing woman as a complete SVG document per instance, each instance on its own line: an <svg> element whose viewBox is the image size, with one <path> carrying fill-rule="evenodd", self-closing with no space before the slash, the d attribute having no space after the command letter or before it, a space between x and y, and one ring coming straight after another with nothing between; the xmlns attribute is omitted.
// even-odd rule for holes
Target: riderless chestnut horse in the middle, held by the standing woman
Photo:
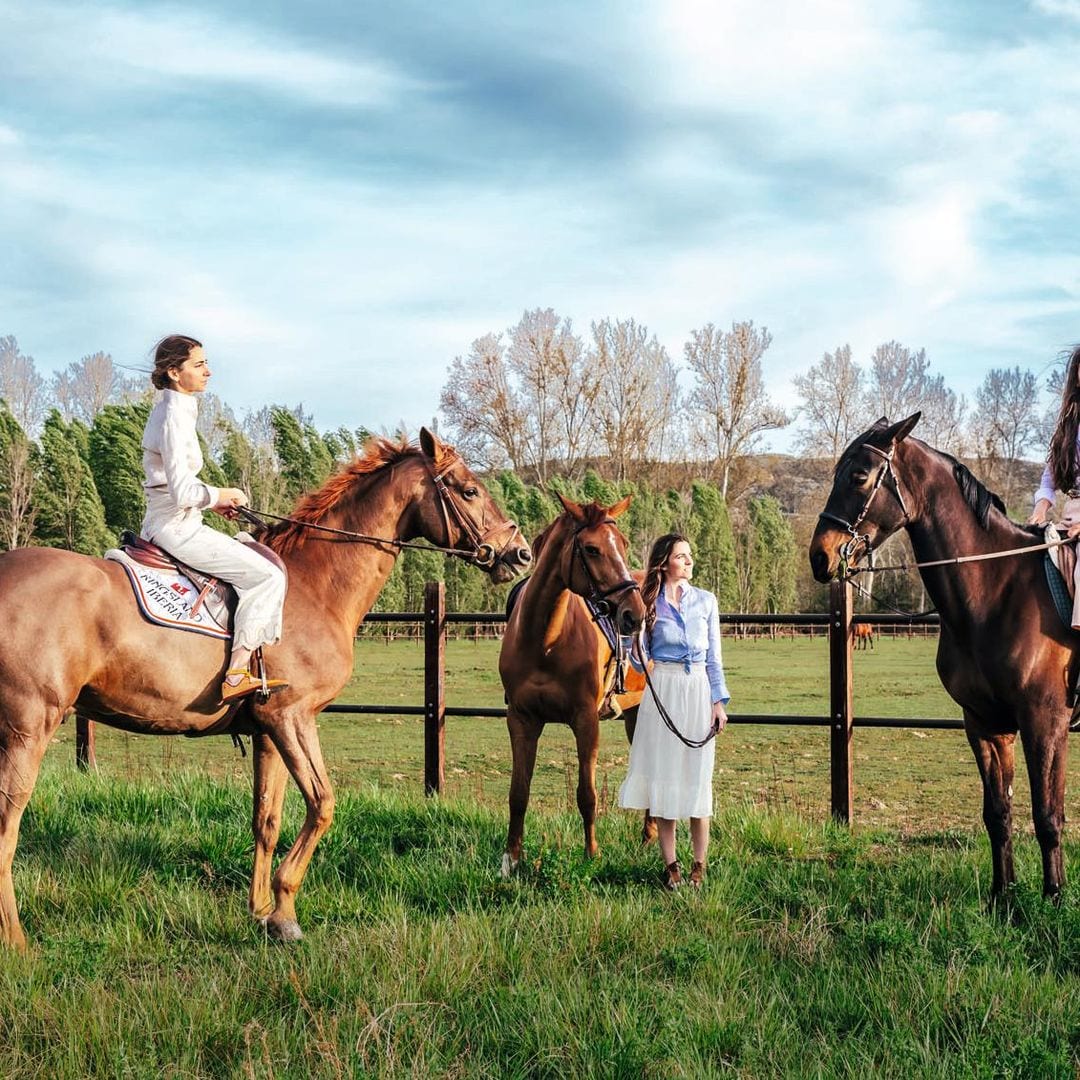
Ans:
<svg viewBox="0 0 1080 1080"><path fill-rule="evenodd" d="M537 742L549 721L569 725L577 740L578 810L585 854L596 854L599 708L610 685L611 649L582 597L613 608L620 634L636 633L645 619L638 582L626 569L626 538L615 523L631 496L613 507L558 498L564 513L534 541L536 569L510 613L499 652L513 755L504 877L522 858Z"/></svg>

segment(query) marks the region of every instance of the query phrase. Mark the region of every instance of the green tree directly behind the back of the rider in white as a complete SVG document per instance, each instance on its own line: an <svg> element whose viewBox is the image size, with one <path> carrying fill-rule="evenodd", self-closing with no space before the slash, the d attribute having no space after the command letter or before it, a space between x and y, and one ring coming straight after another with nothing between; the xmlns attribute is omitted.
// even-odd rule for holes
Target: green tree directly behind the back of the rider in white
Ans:
<svg viewBox="0 0 1080 1080"><path fill-rule="evenodd" d="M90 429L90 467L105 521L116 532L137 530L146 513L143 430L149 415L148 402L106 405Z"/></svg>

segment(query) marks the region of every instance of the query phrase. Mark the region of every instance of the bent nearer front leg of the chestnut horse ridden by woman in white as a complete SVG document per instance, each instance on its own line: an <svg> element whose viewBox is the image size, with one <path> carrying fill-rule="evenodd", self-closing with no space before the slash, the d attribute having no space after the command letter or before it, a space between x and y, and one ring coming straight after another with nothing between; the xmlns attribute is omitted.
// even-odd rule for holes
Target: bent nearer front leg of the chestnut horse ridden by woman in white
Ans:
<svg viewBox="0 0 1080 1080"><path fill-rule="evenodd" d="M296 894L303 881L315 845L334 821L334 788L326 774L319 745L315 718L308 713L278 727L270 738L289 774L300 788L308 812L293 847L273 876L273 910L264 919L267 933L279 941L299 941L303 934L296 921ZM253 882L254 888L254 882Z"/></svg>

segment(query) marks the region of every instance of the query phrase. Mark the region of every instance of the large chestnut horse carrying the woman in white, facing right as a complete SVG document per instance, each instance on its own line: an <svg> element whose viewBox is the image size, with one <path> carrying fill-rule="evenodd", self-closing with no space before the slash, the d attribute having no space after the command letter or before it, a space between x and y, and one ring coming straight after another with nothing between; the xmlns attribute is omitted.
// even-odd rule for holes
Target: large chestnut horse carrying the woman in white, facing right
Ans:
<svg viewBox="0 0 1080 1080"><path fill-rule="evenodd" d="M428 431L419 448L374 440L294 516L386 540L353 542L288 523L262 535L288 568L282 639L266 656L289 687L261 704L247 699L232 715L219 694L229 643L146 622L119 564L50 548L0 555L0 943L25 945L11 874L18 825L45 747L72 705L127 731L252 735L248 906L272 936L301 936L296 893L334 814L315 718L352 674L356 627L393 568L394 541L423 537L472 553L499 582L530 552L454 449ZM288 775L307 816L271 883Z"/></svg>

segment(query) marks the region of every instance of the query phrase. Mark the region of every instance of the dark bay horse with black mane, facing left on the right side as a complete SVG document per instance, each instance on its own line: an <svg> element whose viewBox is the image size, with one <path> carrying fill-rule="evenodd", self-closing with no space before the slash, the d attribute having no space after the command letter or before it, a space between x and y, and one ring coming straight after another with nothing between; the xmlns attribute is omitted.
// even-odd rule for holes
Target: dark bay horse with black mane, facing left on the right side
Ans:
<svg viewBox="0 0 1080 1080"><path fill-rule="evenodd" d="M1038 546L1042 536L1014 525L968 469L908 434L919 414L882 418L836 467L833 490L810 543L819 581L842 572L906 528L918 562ZM983 779L983 821L994 859L991 896L1015 880L1012 850L1014 744L1020 732L1042 849L1042 890L1065 882L1066 703L1080 638L1062 624L1047 586L1043 552L920 569L941 612L937 673L963 710Z"/></svg>

